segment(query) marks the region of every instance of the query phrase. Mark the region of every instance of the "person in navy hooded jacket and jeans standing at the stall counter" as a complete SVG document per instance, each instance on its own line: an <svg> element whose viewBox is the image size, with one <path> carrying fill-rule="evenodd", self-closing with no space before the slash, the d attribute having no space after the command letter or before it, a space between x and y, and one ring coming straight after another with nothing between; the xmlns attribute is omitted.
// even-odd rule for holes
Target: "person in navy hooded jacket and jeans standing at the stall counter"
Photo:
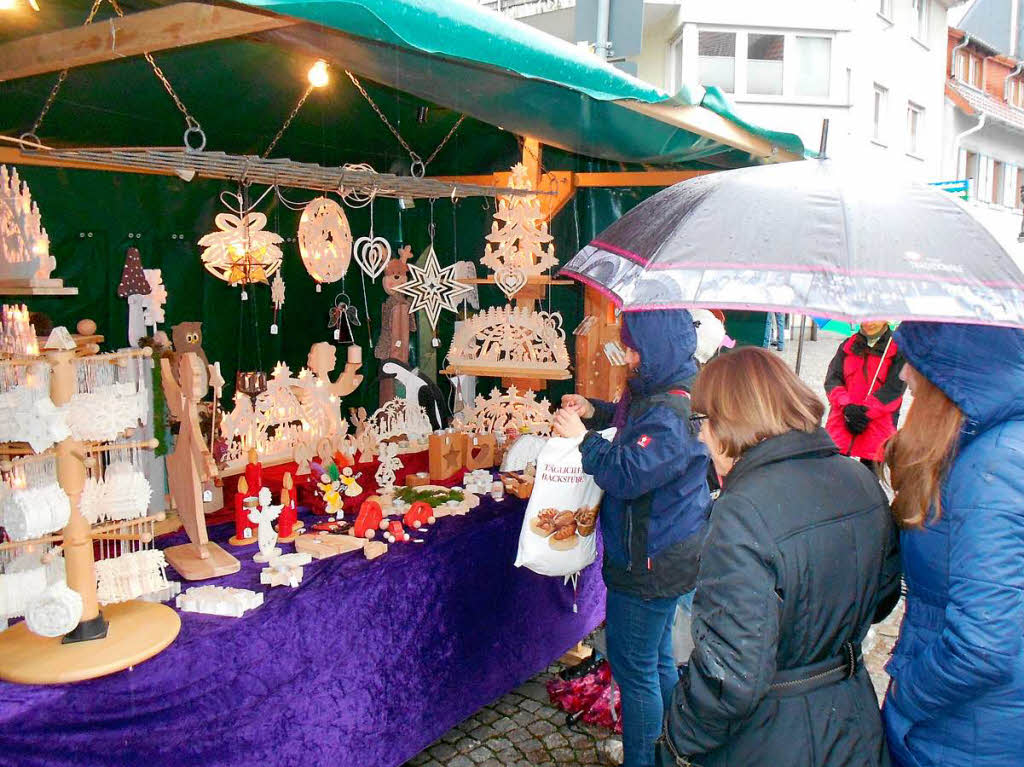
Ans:
<svg viewBox="0 0 1024 767"><path fill-rule="evenodd" d="M633 367L616 403L570 394L555 432L585 435L583 469L604 491L600 523L608 587L608 662L622 689L624 764L651 765L679 679L672 626L696 581L708 524L708 454L690 420L696 331L685 310L627 312ZM594 430L616 426L612 441Z"/></svg>

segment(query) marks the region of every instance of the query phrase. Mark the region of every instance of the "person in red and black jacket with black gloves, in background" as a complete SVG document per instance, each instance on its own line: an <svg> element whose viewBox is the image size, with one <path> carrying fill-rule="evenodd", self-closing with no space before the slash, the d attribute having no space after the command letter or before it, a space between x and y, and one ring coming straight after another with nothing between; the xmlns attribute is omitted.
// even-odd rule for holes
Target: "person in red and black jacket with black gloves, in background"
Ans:
<svg viewBox="0 0 1024 767"><path fill-rule="evenodd" d="M889 323L861 323L840 344L828 365L825 394L830 409L825 428L840 452L877 469L896 421L906 384L900 380L903 355Z"/></svg>

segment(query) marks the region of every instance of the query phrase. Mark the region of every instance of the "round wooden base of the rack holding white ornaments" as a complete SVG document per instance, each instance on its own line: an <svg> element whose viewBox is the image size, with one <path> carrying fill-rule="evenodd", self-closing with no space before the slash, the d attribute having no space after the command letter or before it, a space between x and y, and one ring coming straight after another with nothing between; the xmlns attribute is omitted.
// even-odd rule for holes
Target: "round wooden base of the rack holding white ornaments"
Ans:
<svg viewBox="0 0 1024 767"><path fill-rule="evenodd" d="M18 623L0 633L0 679L18 684L65 684L95 679L153 657L174 641L178 613L156 602L122 602L102 608L106 637L61 644Z"/></svg>

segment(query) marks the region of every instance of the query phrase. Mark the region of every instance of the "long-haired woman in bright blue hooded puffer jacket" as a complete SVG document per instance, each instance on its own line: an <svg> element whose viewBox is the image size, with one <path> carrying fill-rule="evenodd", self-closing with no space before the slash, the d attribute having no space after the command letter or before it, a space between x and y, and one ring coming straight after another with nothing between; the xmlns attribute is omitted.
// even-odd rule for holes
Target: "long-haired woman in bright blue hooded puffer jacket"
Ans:
<svg viewBox="0 0 1024 767"><path fill-rule="evenodd" d="M1024 765L1024 331L904 323L886 461L906 615L885 720L900 767Z"/></svg>

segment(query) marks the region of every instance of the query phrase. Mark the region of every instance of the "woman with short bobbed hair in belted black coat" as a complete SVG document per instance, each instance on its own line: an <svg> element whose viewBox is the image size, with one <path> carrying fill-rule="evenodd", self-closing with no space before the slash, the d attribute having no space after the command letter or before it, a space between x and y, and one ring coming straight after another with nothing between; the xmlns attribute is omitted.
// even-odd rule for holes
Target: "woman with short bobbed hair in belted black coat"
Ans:
<svg viewBox="0 0 1024 767"><path fill-rule="evenodd" d="M839 455L821 401L763 349L711 361L693 411L723 489L665 747L703 767L888 765L860 658L899 596L878 480Z"/></svg>

